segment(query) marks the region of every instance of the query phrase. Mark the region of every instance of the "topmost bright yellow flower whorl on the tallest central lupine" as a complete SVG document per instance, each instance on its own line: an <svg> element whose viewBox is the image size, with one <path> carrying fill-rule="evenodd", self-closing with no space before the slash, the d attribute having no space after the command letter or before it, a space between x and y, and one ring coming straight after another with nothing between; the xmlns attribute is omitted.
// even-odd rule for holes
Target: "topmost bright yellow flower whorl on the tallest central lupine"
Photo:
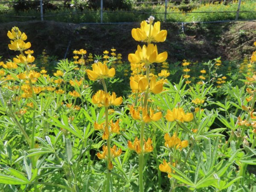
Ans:
<svg viewBox="0 0 256 192"><path fill-rule="evenodd" d="M151 27L151 32L149 34L149 29ZM152 26L151 23L147 23L145 20L140 23L140 28L132 29L131 35L135 41L153 41L153 42L163 42L166 40L167 31L160 31L160 22L157 21Z"/></svg>

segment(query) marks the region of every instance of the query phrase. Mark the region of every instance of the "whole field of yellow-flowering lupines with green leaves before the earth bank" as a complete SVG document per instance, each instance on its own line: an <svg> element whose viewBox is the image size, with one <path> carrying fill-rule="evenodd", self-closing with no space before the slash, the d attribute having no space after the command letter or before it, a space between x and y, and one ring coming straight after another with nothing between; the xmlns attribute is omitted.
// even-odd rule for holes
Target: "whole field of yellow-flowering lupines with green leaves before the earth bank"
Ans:
<svg viewBox="0 0 256 192"><path fill-rule="evenodd" d="M256 51L169 64L151 16L131 29L129 62L84 48L51 72L24 32L6 33L17 56L0 62L1 191L256 190Z"/></svg>

